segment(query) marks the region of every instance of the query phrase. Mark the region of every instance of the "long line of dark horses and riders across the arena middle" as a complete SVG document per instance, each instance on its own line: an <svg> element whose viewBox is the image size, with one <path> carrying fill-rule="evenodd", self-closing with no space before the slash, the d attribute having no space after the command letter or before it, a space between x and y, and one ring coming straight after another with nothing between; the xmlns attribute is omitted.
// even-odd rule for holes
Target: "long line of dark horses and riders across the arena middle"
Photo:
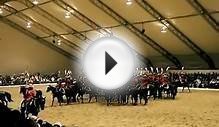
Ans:
<svg viewBox="0 0 219 127"><path fill-rule="evenodd" d="M112 104L112 102L118 102L119 104L126 105L131 103L133 105L137 105L138 100L141 103L144 101L144 105L148 103L148 99L153 97L154 100L156 98L163 98L163 95L166 94L166 97L175 99L177 94L177 84L164 84L160 85L159 83L147 83L144 84L142 82L135 83L127 83L121 88L115 90L102 90L94 87L90 83L86 82L77 82L73 83L73 81L68 81L68 85L63 87L62 90L58 90L58 87L48 86L46 92L52 93L52 106L54 100L57 99L59 105L64 103L63 97L65 96L67 104L71 102L84 102L84 95L88 95L88 102L91 102L92 98L95 98L96 102L98 99L105 100L107 105ZM103 99L104 98L104 99Z"/></svg>

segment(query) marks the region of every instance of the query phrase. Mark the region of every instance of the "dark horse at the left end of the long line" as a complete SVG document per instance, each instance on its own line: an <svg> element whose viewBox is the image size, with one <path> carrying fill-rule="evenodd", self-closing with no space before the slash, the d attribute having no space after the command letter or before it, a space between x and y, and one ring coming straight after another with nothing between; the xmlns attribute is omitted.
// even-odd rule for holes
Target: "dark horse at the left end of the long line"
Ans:
<svg viewBox="0 0 219 127"><path fill-rule="evenodd" d="M57 98L59 105L61 106L61 103L63 102L63 95L64 93L62 93L61 91L58 90L58 88L54 87L54 86L47 86L46 92L52 92L52 105L54 103L54 99Z"/></svg>

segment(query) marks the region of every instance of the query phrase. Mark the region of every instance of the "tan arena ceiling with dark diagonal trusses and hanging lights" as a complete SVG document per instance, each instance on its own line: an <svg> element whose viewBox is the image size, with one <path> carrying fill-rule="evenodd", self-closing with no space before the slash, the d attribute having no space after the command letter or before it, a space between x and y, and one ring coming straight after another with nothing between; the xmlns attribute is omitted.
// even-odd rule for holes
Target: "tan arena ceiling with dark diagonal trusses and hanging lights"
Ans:
<svg viewBox="0 0 219 127"><path fill-rule="evenodd" d="M218 5L218 0L2 0L0 21L74 60L93 40L116 36L153 66L214 69Z"/></svg>

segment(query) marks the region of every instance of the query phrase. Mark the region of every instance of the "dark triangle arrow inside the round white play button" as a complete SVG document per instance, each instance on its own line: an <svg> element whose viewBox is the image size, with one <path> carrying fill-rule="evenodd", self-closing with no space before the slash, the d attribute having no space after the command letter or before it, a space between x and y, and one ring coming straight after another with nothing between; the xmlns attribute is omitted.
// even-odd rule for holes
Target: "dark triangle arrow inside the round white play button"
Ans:
<svg viewBox="0 0 219 127"><path fill-rule="evenodd" d="M117 62L105 52L105 75L117 64Z"/></svg>

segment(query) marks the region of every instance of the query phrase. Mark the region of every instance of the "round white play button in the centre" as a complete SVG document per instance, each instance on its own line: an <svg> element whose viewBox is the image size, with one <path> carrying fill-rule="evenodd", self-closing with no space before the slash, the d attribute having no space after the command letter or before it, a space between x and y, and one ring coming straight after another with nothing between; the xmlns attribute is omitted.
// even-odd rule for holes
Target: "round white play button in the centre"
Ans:
<svg viewBox="0 0 219 127"><path fill-rule="evenodd" d="M83 72L101 89L117 89L133 76L135 56L130 47L115 37L92 42L83 55Z"/></svg>

